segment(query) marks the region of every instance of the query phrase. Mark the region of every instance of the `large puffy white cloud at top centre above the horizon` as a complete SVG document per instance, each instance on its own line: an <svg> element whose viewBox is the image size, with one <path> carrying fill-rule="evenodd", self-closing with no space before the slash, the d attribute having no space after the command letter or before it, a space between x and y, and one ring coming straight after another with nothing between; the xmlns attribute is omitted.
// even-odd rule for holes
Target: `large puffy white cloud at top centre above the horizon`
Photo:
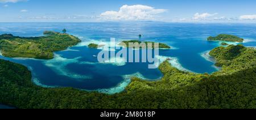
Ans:
<svg viewBox="0 0 256 120"><path fill-rule="evenodd" d="M133 5L122 6L119 11L106 11L100 17L104 20L154 20L157 14L166 12L151 6Z"/></svg>

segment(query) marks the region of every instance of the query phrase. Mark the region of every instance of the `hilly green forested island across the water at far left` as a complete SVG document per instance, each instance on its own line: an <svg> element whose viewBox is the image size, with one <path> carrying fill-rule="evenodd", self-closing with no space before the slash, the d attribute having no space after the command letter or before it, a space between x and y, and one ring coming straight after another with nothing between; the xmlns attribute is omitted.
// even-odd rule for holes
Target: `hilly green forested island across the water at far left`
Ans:
<svg viewBox="0 0 256 120"><path fill-rule="evenodd" d="M0 36L0 50L6 57L26 57L36 59L52 59L53 52L65 50L77 45L81 40L53 31L45 31L41 37L18 37L11 34Z"/></svg>

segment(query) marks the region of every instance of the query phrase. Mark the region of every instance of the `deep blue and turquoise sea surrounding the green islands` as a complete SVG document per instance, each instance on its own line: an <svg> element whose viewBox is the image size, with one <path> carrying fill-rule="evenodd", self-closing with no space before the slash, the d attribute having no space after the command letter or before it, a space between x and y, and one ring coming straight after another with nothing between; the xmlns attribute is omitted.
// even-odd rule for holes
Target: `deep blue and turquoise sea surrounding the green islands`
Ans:
<svg viewBox="0 0 256 120"><path fill-rule="evenodd" d="M131 76L157 80L162 73L148 69L148 63L98 63L101 50L86 47L91 42L109 42L110 37L117 41L136 40L163 42L172 49L159 50L160 60L171 58L170 63L180 70L196 73L212 73L218 68L207 57L207 51L221 42L207 41L208 36L220 33L245 38L245 46L256 46L256 24L193 24L193 23L0 23L0 34L15 36L42 36L43 31L61 31L79 37L82 42L68 50L55 53L51 60L26 58L6 58L30 68L33 82L42 87L73 87L102 93L121 92L130 83ZM237 44L237 43L230 43ZM118 52L118 51L117 51Z"/></svg>

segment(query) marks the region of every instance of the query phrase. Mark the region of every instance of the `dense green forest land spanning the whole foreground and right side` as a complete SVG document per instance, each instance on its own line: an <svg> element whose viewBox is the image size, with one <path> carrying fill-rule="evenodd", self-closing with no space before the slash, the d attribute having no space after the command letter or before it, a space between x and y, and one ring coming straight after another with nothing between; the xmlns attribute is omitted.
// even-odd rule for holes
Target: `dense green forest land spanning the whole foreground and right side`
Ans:
<svg viewBox="0 0 256 120"><path fill-rule="evenodd" d="M0 104L16 108L256 108L256 50L242 45L210 52L222 70L213 74L180 71L168 61L161 80L133 78L115 95L74 88L43 88L22 65L0 60Z"/></svg>

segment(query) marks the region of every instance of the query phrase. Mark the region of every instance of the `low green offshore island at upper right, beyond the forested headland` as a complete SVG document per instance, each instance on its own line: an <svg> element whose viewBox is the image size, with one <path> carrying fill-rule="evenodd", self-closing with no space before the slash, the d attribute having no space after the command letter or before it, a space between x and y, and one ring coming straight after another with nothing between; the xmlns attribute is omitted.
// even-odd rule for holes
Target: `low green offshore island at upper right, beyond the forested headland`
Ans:
<svg viewBox="0 0 256 120"><path fill-rule="evenodd" d="M227 35L227 34L221 34L216 37L208 37L207 40L209 41L229 41L229 42L243 42L243 38L233 36L233 35Z"/></svg>

